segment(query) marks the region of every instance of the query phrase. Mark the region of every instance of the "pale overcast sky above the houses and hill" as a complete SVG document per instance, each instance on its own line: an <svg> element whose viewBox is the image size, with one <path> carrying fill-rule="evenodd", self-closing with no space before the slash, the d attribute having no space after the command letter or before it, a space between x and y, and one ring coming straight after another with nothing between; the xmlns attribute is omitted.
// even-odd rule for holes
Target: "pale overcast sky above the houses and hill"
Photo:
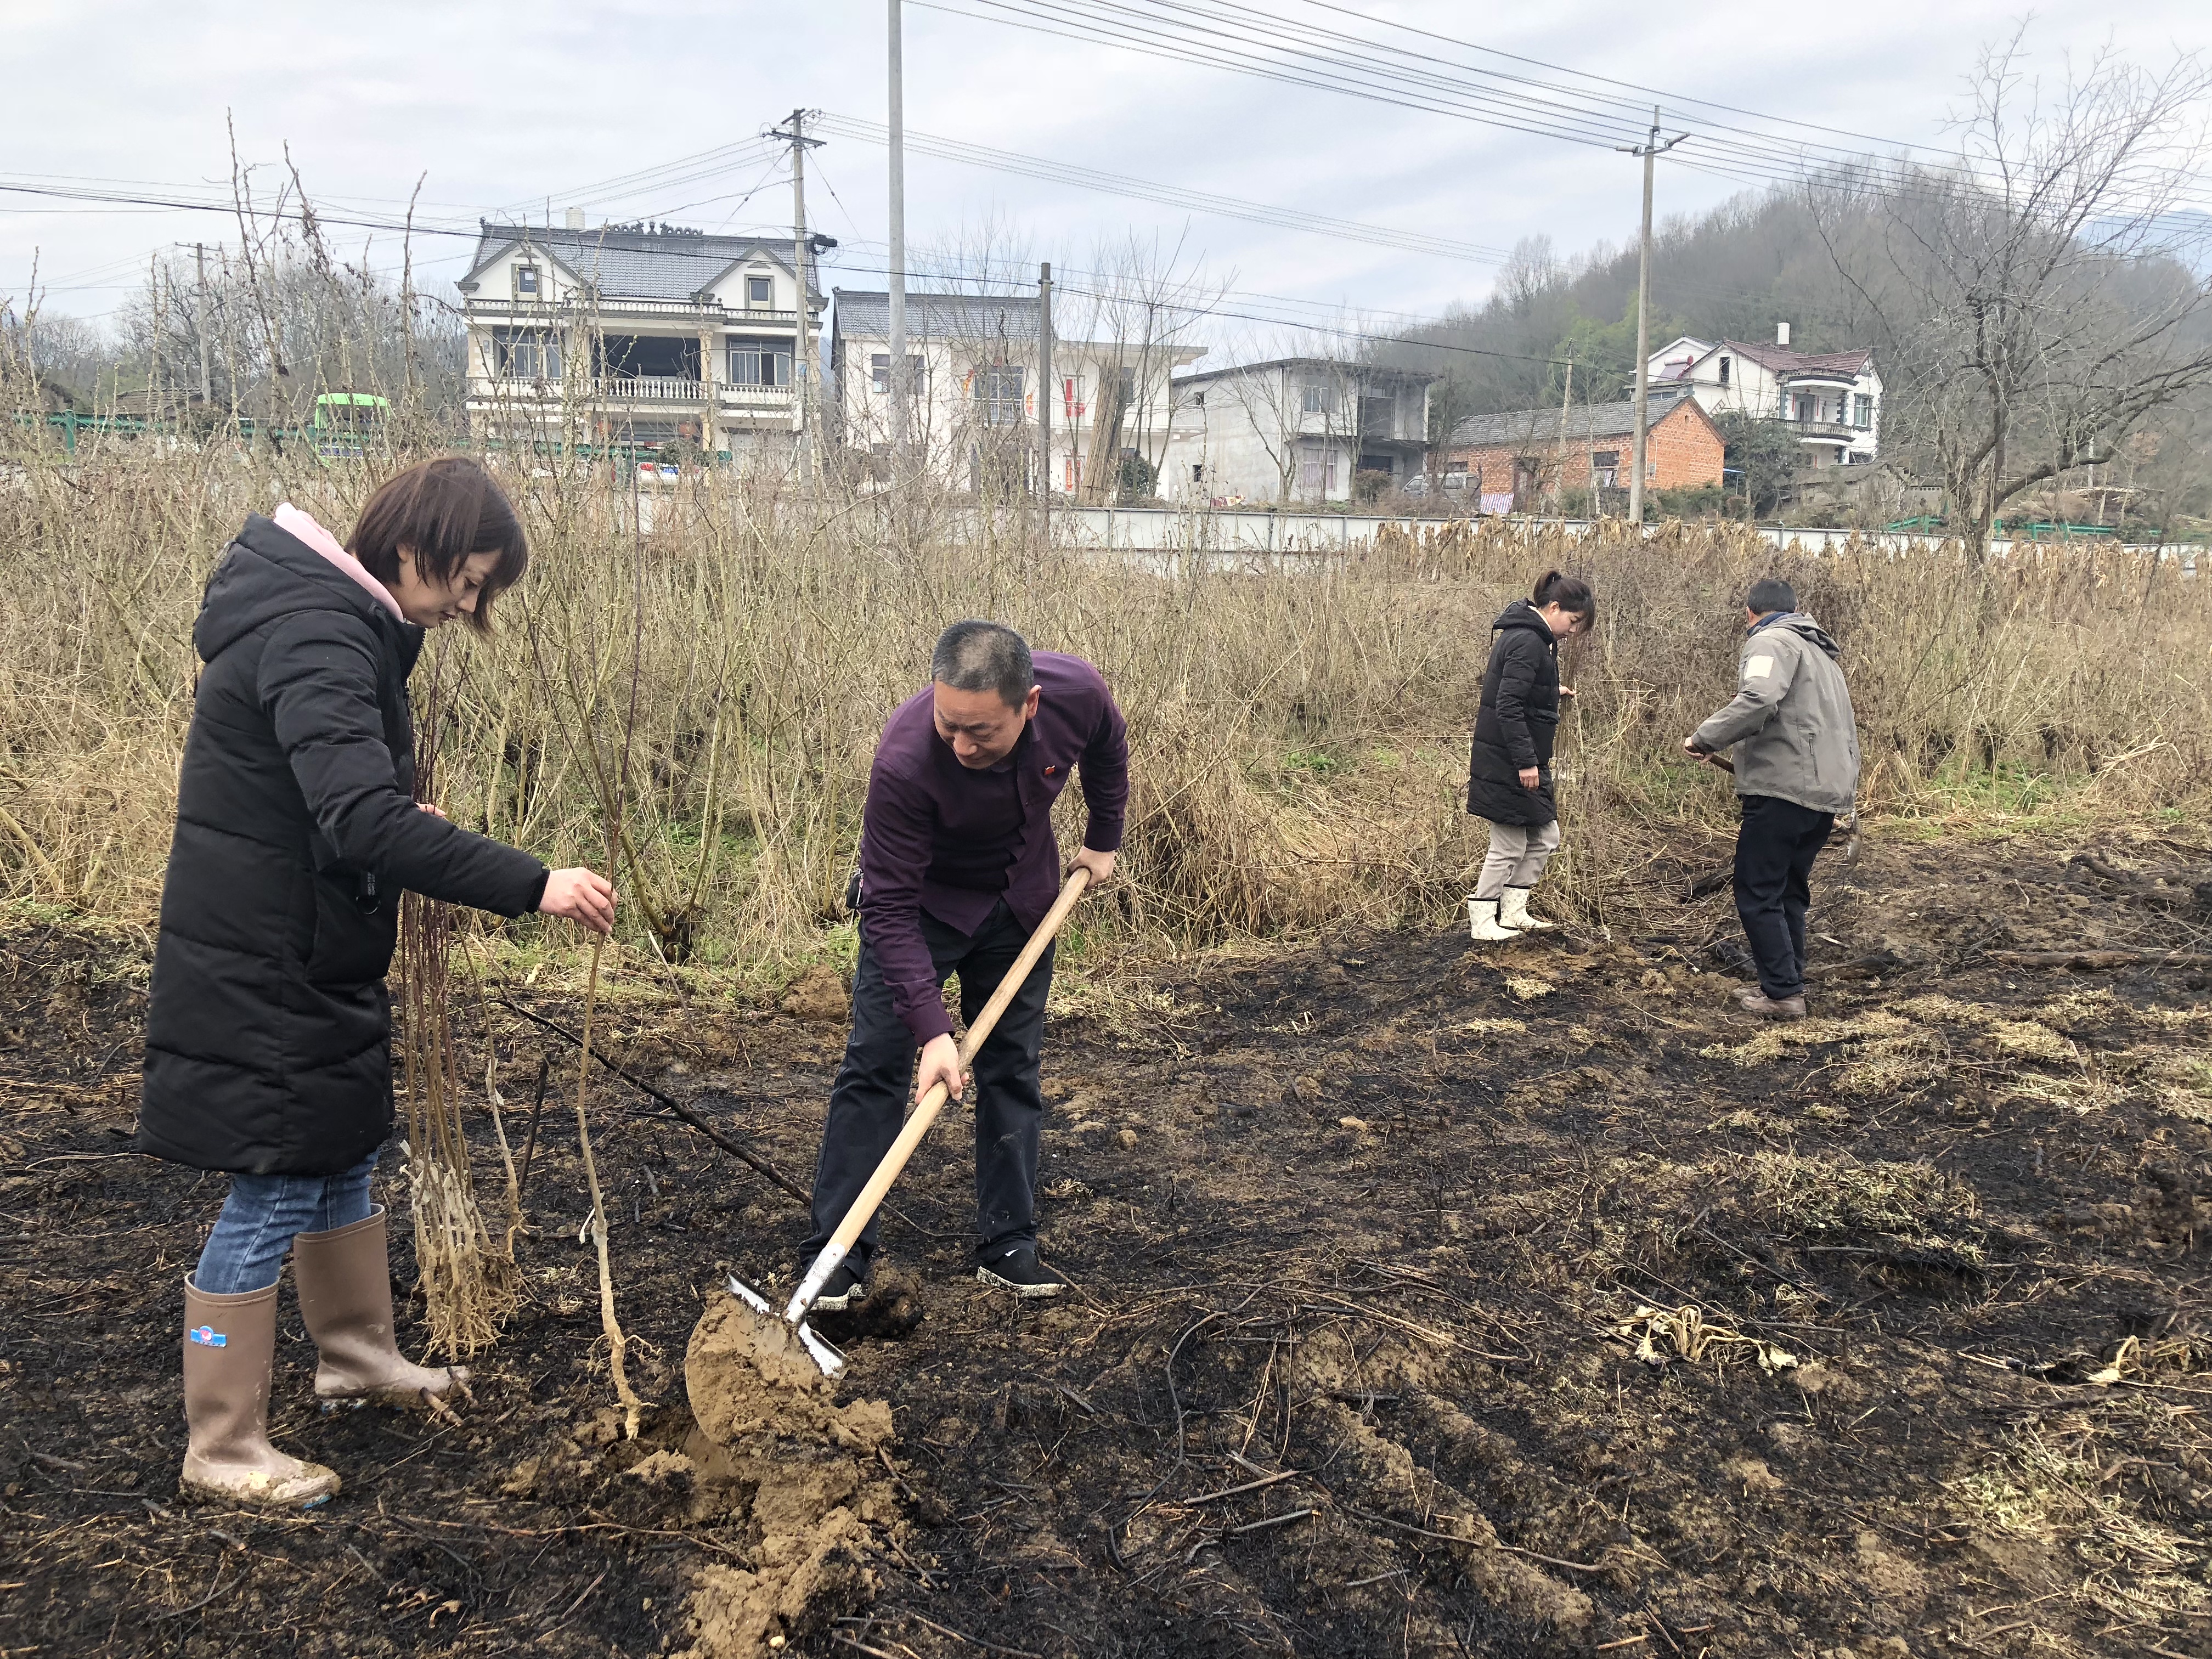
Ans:
<svg viewBox="0 0 2212 1659"><path fill-rule="evenodd" d="M1254 2L1360 27L1301 0ZM1617 0L1345 4L1668 97L1911 144L1942 144L1978 46L2008 33L2020 15L1991 0L1860 0L1827 11L1772 0L1688 9ZM907 122L918 133L1493 248L1551 234L1562 252L1575 252L1624 241L1635 228L1639 179L1626 155L916 4L905 29ZM246 161L281 161L290 144L310 192L332 212L398 212L422 177L422 215L447 226L478 212L542 217L546 204L560 221L593 181L750 139L794 106L872 122L885 115L883 0L602 0L588 9L507 0L0 0L0 38L11 64L0 100L4 184L100 179L102 188L204 197L230 177L228 113ZM2203 0L2139 0L2115 20L2108 2L2051 0L2031 31L2046 73L2059 71L2066 53L2084 55L2106 40L2163 64L2177 46L2212 44L2212 9ZM816 150L810 168L812 219L847 243L832 257L843 268L823 272L825 285L880 288L883 148L841 137ZM263 188L274 177L257 173ZM1739 188L1661 166L1661 215ZM604 217L787 228L787 173L748 153L719 177L599 199L593 223ZM973 246L987 223L1002 250L1077 272L1106 239L1157 234L1183 250L1186 268L1241 292L1376 316L1480 299L1495 274L1462 259L909 157L914 246ZM144 281L150 250L234 234L212 212L0 192L0 299L20 303L35 250L49 305L102 316ZM341 234L358 250L361 232ZM467 250L460 237L427 239L418 270L451 281L467 268Z"/></svg>

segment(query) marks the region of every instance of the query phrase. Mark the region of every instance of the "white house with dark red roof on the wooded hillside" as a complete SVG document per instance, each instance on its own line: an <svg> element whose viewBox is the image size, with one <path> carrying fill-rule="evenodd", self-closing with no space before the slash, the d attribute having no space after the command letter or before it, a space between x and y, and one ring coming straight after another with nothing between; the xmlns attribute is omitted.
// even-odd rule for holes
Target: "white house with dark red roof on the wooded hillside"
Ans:
<svg viewBox="0 0 2212 1659"><path fill-rule="evenodd" d="M1787 420L1812 467L1865 465L1880 453L1874 352L1792 352L1781 323L1774 345L1683 336L1661 345L1646 372L1655 392L1686 389L1705 414Z"/></svg>

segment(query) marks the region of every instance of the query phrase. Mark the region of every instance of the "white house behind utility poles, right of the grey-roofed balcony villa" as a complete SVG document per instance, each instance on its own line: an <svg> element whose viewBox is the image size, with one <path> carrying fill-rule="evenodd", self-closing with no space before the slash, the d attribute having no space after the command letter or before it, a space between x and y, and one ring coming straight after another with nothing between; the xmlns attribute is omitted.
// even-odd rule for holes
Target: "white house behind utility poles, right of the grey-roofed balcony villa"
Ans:
<svg viewBox="0 0 2212 1659"><path fill-rule="evenodd" d="M843 438L891 451L891 299L832 290L830 385ZM1073 314L1073 312L1071 312ZM1055 314L1057 325L1066 325ZM1161 323L1172 327L1172 321ZM1091 332L1091 330L1084 330ZM1150 493L1168 434L1168 374L1206 347L1172 334L1053 338L1055 495ZM953 489L1033 491L1042 374L1035 294L907 294L907 442Z"/></svg>

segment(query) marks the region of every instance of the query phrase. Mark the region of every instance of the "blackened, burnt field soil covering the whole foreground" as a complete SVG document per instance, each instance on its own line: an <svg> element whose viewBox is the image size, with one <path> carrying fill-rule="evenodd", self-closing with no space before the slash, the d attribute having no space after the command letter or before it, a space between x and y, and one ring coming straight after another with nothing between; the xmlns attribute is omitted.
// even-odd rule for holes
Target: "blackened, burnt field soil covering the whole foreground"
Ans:
<svg viewBox="0 0 2212 1659"><path fill-rule="evenodd" d="M18 918L0 1652L2208 1655L2205 969L2004 956L2201 953L2212 854L2093 852L1838 849L1790 1029L1725 995L1725 896L1632 938L1336 936L1091 991L1046 1046L1075 1290L973 1283L947 1117L874 1298L823 1321L830 1460L748 1442L776 1425L743 1389L710 1422L686 1394L726 1276L794 1283L794 1201L602 1075L641 1438L553 1106L524 1301L458 1425L319 1416L288 1292L272 1431L345 1478L296 1517L177 1500L179 1285L223 1181L128 1150L144 942ZM827 991L633 989L608 1051L803 1183ZM573 1051L498 1009L489 1040L520 1144ZM493 1197L489 1117L476 1148Z"/></svg>

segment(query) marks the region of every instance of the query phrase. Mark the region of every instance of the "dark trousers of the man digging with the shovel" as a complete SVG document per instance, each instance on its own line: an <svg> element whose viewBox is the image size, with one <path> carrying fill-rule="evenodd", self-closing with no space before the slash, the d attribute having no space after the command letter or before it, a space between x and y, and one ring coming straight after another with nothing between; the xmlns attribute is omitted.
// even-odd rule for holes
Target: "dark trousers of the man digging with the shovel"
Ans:
<svg viewBox="0 0 2212 1659"><path fill-rule="evenodd" d="M956 933L925 914L922 938L929 942L938 984L960 975L960 1018L973 1022L1029 942L1029 929L1000 900L973 936ZM1046 947L969 1064L978 1254L993 1245L1004 1250L1037 1243L1037 1130L1044 1121L1037 1051L1044 1044L1044 1000L1051 989L1053 951ZM823 1124L823 1150L814 1164L814 1237L807 1239L807 1254L830 1243L836 1223L898 1139L907 1091L914 1086L914 1033L891 1011L883 969L867 945L860 945L860 964L852 978L852 1035L845 1037L845 1066L830 1091L830 1121ZM865 1265L874 1250L876 1219L869 1217L852 1248L854 1263Z"/></svg>

